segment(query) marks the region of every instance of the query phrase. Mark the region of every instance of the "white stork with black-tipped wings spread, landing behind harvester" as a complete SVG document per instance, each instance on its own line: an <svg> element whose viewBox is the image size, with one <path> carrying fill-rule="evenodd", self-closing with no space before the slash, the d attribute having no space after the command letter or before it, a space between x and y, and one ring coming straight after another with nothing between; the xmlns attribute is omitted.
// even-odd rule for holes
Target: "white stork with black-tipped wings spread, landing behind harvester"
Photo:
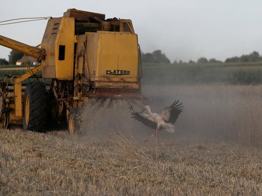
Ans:
<svg viewBox="0 0 262 196"><path fill-rule="evenodd" d="M130 106L130 113L132 118L141 121L144 125L156 129L155 136L157 136L158 130L161 128L174 133L174 123L176 122L178 115L183 111L182 103L178 104L178 101L175 101L171 106L165 107L161 114L152 113L149 106L145 106L144 110L140 113L135 112L133 107ZM147 111L149 114L144 114L143 112Z"/></svg>

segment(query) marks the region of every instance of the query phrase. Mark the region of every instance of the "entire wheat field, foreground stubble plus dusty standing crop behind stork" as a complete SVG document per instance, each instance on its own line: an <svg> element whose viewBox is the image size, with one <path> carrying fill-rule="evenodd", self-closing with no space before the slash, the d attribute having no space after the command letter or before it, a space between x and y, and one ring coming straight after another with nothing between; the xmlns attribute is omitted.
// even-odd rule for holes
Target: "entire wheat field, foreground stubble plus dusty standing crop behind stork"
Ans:
<svg viewBox="0 0 262 196"><path fill-rule="evenodd" d="M111 109L108 118L84 112L89 123L75 136L1 130L0 194L261 195L261 92L261 86L145 86L155 112L177 99L185 107L176 133L160 131L157 143L124 102L111 107L121 109L120 117Z"/></svg>

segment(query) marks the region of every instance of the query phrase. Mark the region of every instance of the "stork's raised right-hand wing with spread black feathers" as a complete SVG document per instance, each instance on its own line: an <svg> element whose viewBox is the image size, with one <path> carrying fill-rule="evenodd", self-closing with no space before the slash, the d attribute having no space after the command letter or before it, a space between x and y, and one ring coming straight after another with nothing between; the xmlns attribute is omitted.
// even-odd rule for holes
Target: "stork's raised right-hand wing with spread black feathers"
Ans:
<svg viewBox="0 0 262 196"><path fill-rule="evenodd" d="M175 101L171 106L165 107L161 113L161 117L167 123L174 124L178 118L178 115L183 111L182 103L178 104L179 100Z"/></svg>

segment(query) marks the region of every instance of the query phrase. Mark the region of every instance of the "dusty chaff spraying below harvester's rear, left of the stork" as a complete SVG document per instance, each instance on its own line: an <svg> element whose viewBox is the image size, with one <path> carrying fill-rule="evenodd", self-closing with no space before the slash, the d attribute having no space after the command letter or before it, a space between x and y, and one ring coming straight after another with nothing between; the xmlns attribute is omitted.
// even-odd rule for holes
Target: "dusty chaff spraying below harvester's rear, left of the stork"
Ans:
<svg viewBox="0 0 262 196"><path fill-rule="evenodd" d="M138 141L145 139L153 130L132 119L129 106L140 112L146 104L147 100L90 99L81 111L81 140L105 141L115 132Z"/></svg>

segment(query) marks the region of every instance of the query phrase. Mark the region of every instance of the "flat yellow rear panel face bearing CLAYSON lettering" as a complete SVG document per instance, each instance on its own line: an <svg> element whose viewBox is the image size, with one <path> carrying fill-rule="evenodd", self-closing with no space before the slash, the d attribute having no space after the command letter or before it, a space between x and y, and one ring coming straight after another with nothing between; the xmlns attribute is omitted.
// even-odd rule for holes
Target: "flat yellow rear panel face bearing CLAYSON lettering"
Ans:
<svg viewBox="0 0 262 196"><path fill-rule="evenodd" d="M97 77L137 78L138 38L136 34L100 32Z"/></svg>

